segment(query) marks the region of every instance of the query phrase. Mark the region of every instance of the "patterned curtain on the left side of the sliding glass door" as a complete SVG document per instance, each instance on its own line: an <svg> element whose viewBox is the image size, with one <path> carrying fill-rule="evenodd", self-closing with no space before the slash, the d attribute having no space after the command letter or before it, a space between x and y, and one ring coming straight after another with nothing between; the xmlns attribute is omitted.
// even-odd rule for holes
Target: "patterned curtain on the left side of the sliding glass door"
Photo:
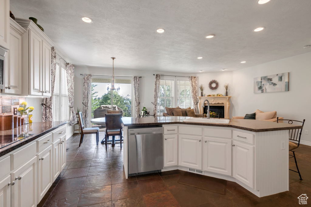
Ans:
<svg viewBox="0 0 311 207"><path fill-rule="evenodd" d="M92 74L83 74L83 110L82 117L85 128L89 127L89 100L91 95Z"/></svg>

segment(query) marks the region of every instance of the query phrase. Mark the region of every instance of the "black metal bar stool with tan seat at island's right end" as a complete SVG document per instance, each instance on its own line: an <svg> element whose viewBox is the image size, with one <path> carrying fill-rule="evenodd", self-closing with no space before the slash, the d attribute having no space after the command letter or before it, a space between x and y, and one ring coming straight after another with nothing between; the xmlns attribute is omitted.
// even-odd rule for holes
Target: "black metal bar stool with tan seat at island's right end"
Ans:
<svg viewBox="0 0 311 207"><path fill-rule="evenodd" d="M304 121L296 121L296 120L291 120L291 119L281 119L282 121L288 121L289 124L292 124L293 122L295 124L301 124L302 127L304 127ZM276 117L276 122L278 123L280 120L279 120L279 117ZM301 178L301 175L300 175L300 172L299 172L299 169L298 169L298 165L297 165L297 160L296 160L296 156L295 156L295 149L297 149L299 147L299 144L300 144L300 137L301 137L301 132L302 132L302 128L301 129L290 129L289 130L289 139L290 139L290 142L289 142L289 151L293 152L293 155L289 155L290 158L294 158L295 159L295 163L296 163L296 168L297 168L297 171L295 170L292 170L290 169L291 171L294 171L296 173L299 174L299 177L300 177L300 180L302 180ZM294 142L291 142L291 141L295 141Z"/></svg>

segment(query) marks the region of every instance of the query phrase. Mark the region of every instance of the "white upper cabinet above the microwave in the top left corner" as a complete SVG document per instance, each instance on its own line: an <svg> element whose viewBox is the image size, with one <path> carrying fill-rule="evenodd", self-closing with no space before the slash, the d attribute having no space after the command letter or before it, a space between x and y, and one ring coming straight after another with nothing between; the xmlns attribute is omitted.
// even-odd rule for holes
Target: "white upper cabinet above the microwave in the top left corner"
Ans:
<svg viewBox="0 0 311 207"><path fill-rule="evenodd" d="M0 0L0 46L10 49L10 1Z"/></svg>

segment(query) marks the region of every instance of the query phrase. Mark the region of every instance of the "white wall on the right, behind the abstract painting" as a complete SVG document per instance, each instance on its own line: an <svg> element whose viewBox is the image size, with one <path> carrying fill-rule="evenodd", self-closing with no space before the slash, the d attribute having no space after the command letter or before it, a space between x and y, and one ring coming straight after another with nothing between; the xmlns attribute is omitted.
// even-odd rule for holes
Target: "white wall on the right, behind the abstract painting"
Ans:
<svg viewBox="0 0 311 207"><path fill-rule="evenodd" d="M310 88L311 88L311 53L305 53L265 64L233 71L232 97L233 116L244 116L256 109L276 111L277 116L285 119L302 121L306 119L301 140L311 144L311 133L304 134L304 130L311 129ZM289 91L272 93L253 93L253 79L255 77L289 72Z"/></svg>

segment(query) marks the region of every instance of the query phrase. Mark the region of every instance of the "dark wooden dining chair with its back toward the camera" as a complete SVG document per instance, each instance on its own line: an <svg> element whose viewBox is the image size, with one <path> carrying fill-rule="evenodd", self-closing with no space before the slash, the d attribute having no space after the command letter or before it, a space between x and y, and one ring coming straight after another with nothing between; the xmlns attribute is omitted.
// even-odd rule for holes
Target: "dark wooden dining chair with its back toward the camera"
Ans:
<svg viewBox="0 0 311 207"><path fill-rule="evenodd" d="M108 137L109 136L120 136L120 146L122 149L122 114L114 113L114 114L105 114L105 145L107 150Z"/></svg>

